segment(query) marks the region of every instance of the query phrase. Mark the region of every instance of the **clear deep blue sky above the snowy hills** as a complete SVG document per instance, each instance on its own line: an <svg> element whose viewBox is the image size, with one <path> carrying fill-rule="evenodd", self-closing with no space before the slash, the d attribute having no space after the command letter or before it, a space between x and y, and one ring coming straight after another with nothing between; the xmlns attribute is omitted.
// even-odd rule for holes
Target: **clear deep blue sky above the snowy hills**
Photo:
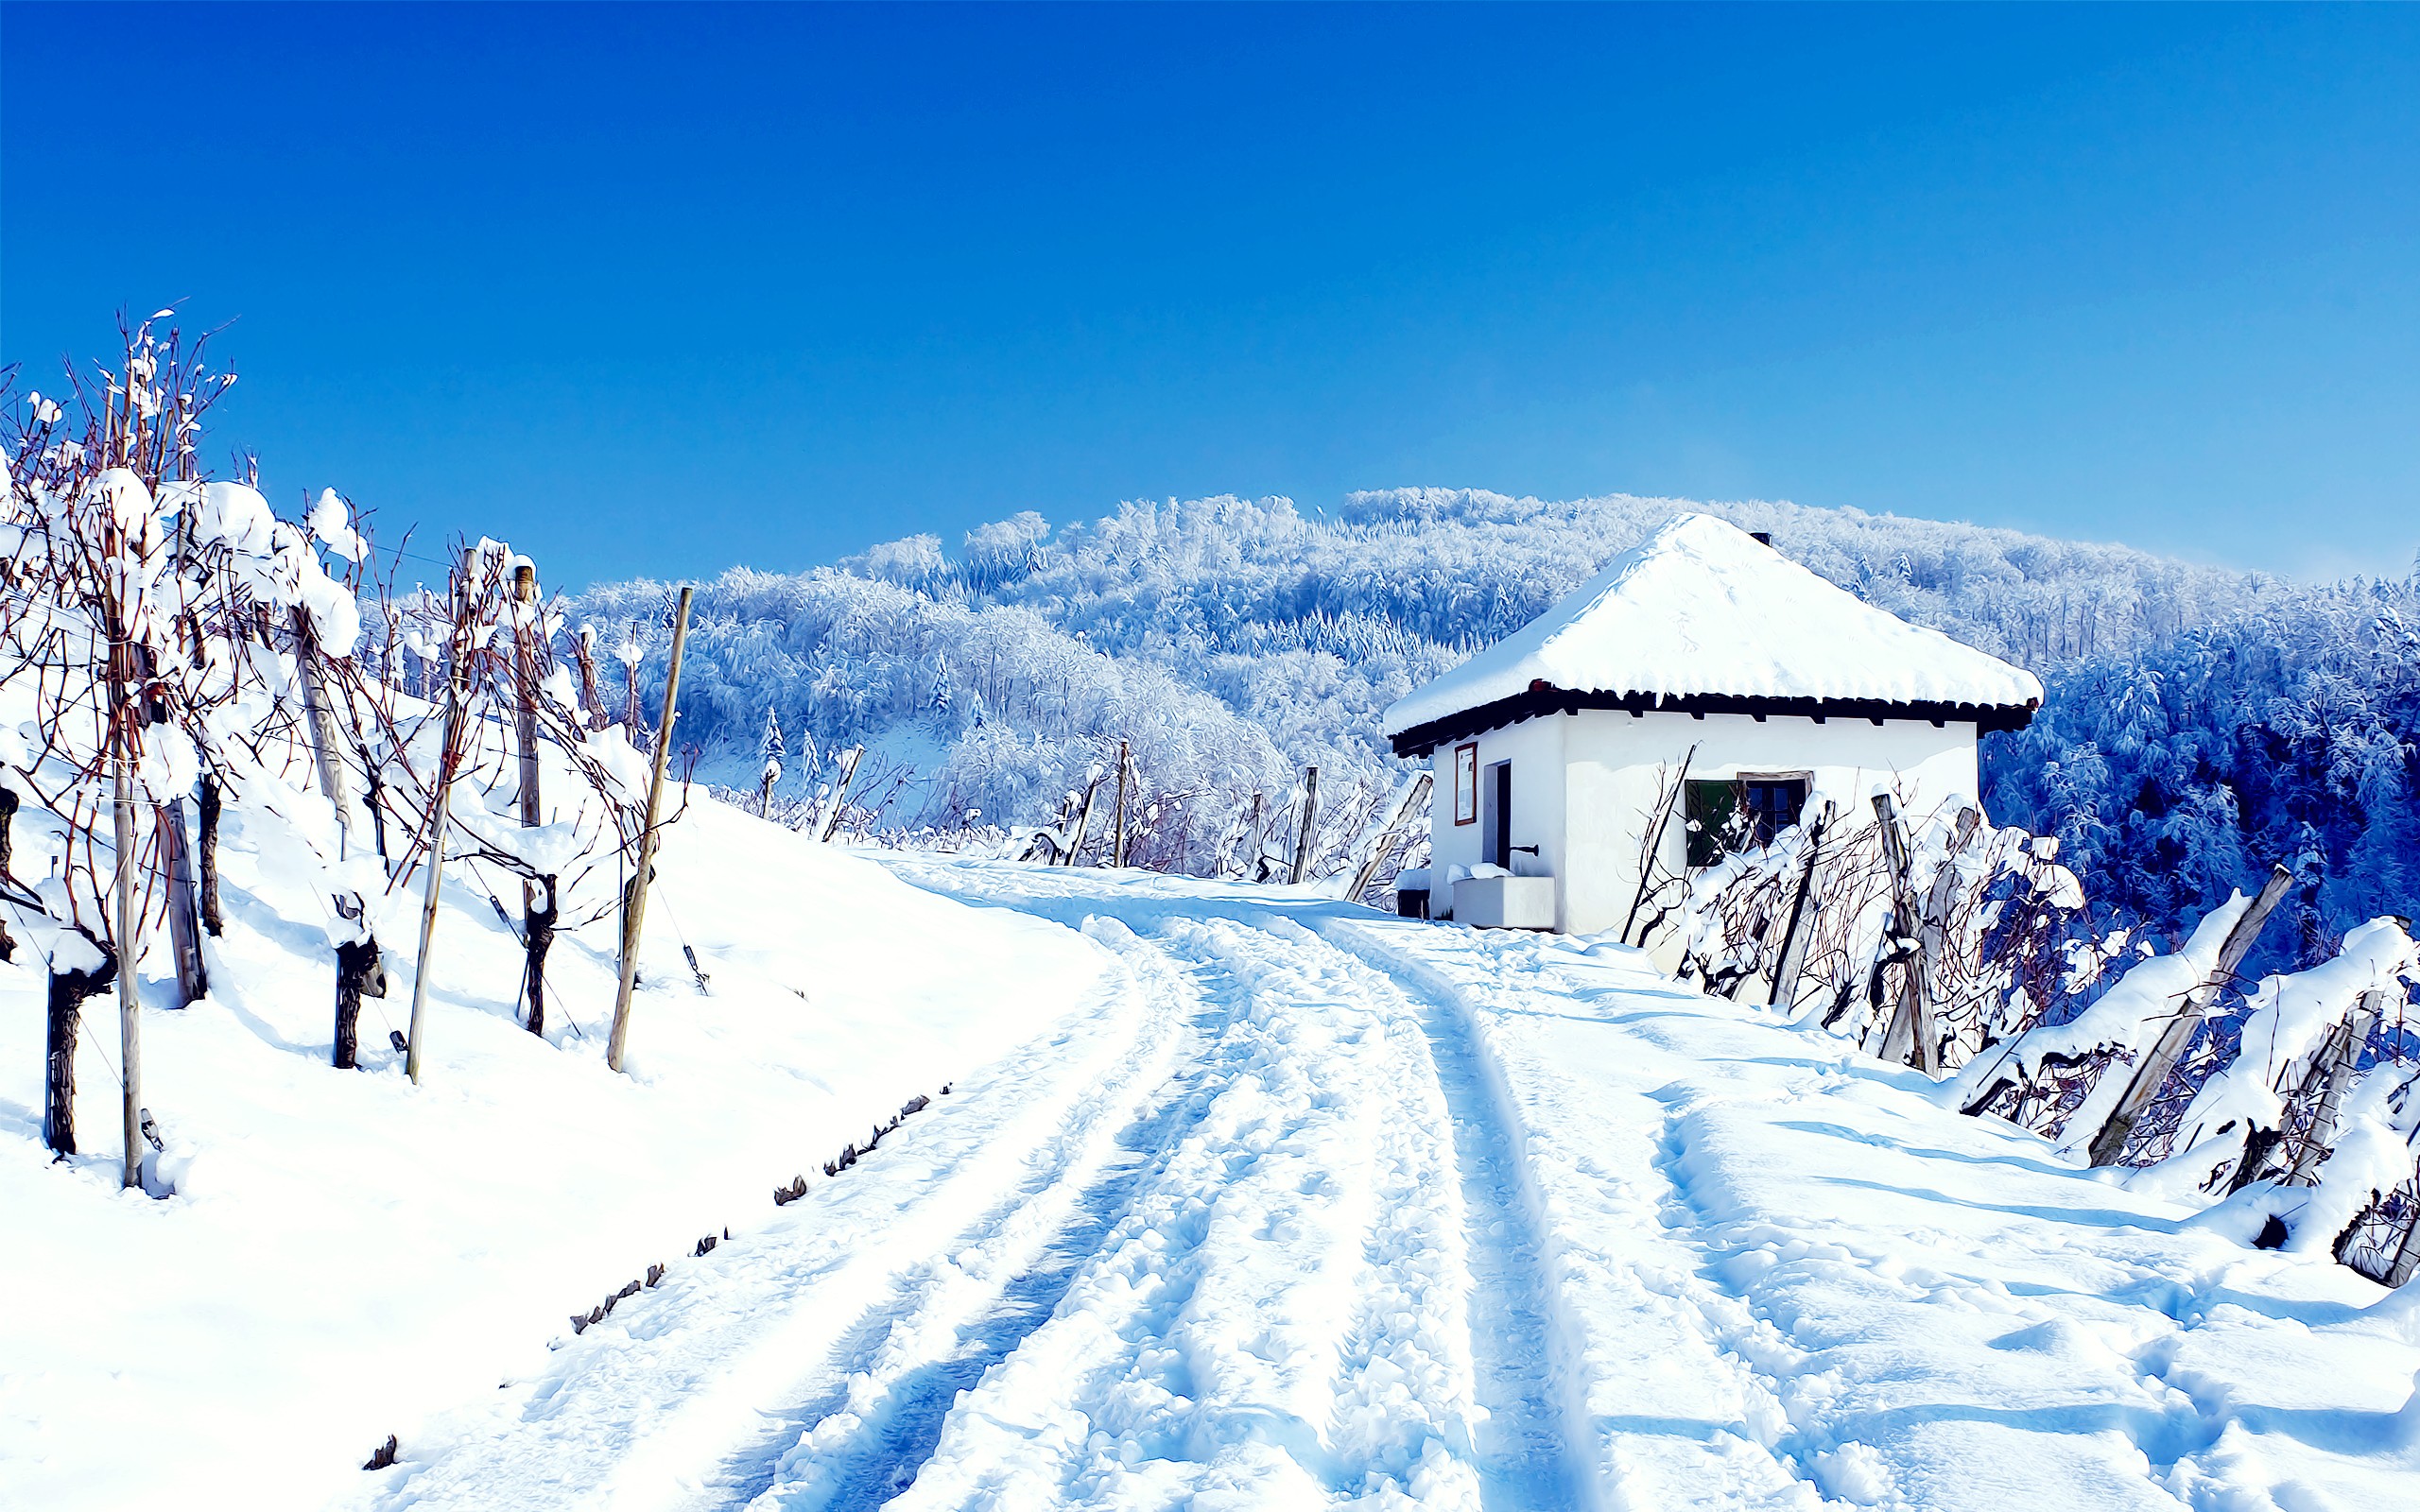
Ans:
<svg viewBox="0 0 2420 1512"><path fill-rule="evenodd" d="M2420 10L0 15L0 353L564 585L1021 508L1764 496L2420 544Z"/></svg>

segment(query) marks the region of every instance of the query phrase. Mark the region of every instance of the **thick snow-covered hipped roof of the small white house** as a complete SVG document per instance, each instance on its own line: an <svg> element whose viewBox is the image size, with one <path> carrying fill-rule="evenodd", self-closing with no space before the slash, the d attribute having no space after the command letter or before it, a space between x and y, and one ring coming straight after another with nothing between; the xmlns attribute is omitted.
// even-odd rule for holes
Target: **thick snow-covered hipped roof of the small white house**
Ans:
<svg viewBox="0 0 2420 1512"><path fill-rule="evenodd" d="M1677 515L1571 598L1387 709L1404 735L1544 689L2030 709L2033 673L1907 624L1738 525Z"/></svg>

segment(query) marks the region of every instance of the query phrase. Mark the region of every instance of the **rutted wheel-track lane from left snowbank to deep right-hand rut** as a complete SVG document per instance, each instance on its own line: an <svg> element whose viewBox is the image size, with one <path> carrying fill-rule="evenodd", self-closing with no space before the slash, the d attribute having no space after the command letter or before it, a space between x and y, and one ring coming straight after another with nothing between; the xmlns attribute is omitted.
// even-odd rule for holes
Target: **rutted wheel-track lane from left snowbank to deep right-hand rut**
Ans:
<svg viewBox="0 0 2420 1512"><path fill-rule="evenodd" d="M373 1505L1578 1505L1454 1014L1300 902L912 876L1082 927L1111 985L440 1422Z"/></svg>

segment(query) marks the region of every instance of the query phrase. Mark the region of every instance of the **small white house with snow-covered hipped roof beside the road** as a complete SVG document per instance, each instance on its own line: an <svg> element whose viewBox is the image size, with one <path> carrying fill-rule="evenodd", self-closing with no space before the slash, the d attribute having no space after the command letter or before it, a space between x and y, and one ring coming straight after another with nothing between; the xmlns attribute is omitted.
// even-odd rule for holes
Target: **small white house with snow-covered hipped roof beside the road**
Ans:
<svg viewBox="0 0 2420 1512"><path fill-rule="evenodd" d="M1679 515L1392 706L1387 735L1435 772L1430 912L1597 934L1621 929L1675 779L1667 876L1825 801L1846 820L1880 784L1909 813L1972 796L1975 740L2040 704L2033 673Z"/></svg>

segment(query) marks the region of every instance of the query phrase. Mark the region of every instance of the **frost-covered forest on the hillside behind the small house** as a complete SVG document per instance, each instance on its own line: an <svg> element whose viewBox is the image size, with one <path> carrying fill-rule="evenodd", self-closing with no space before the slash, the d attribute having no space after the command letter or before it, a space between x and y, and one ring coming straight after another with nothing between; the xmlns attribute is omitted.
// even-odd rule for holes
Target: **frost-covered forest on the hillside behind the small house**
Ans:
<svg viewBox="0 0 2420 1512"><path fill-rule="evenodd" d="M915 535L808 573L699 585L682 685L704 769L753 786L770 721L786 786L869 745L878 825L1033 825L1133 752L1147 801L1188 815L1205 866L1222 815L1389 791L1379 716L1520 627L1677 510L1769 530L1825 578L2042 673L2050 702L1984 743L1996 823L2057 835L2110 924L2176 931L2272 861L2297 871L2297 953L2420 878L2420 578L2299 585L2154 556L1861 510L1474 489L1125 503ZM661 689L663 583L581 595L598 644ZM2282 934L2282 931L2280 931Z"/></svg>

